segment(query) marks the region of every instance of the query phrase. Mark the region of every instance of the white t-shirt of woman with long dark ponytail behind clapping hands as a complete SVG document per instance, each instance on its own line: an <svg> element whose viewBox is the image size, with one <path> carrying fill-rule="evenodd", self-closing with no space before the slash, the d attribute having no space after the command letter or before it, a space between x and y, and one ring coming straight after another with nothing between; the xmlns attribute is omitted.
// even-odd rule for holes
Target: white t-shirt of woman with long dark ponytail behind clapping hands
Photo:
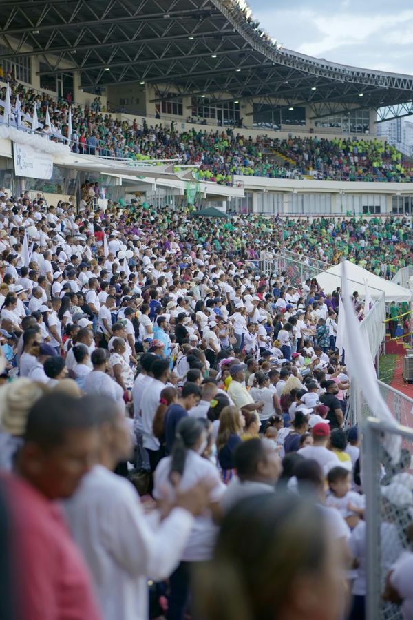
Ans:
<svg viewBox="0 0 413 620"><path fill-rule="evenodd" d="M173 502L176 492L169 481L171 457L162 459L153 475L153 497L167 498ZM199 482L211 481L210 502L219 502L224 495L226 486L221 482L218 469L209 460L203 459L193 450L187 451L184 472L180 480L180 490L184 491ZM211 512L204 510L202 515L195 517L191 535L182 554L182 561L197 562L211 559L213 546L218 534L218 526L213 523Z"/></svg>

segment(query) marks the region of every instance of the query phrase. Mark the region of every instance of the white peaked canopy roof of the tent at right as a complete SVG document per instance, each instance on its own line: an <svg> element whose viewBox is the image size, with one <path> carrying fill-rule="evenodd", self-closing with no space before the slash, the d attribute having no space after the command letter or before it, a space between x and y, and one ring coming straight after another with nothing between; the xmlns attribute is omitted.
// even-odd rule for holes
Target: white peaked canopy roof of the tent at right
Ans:
<svg viewBox="0 0 413 620"><path fill-rule="evenodd" d="M402 302L410 301L412 299L412 293L409 289L405 289L399 285L394 284L391 280L384 280L380 276L375 276L374 273L363 269L359 265L349 260L344 261L346 263L346 273L348 286L351 292L358 291L363 295L363 291L366 288L365 281L367 280L368 287L370 289L370 295L373 299L381 297L384 293L385 302ZM320 287L324 289L324 293L332 293L337 287L341 287L341 271L342 263L339 265L333 265L327 271L321 271L317 278L317 282Z"/></svg>

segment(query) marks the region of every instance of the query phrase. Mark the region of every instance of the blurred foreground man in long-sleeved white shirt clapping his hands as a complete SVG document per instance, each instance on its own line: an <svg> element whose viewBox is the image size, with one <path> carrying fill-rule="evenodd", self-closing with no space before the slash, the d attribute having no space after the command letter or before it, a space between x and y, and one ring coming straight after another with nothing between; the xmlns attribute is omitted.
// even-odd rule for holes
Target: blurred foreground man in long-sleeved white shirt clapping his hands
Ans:
<svg viewBox="0 0 413 620"><path fill-rule="evenodd" d="M98 464L63 502L65 517L94 580L103 619L145 620L147 579L162 581L178 566L193 515L204 510L211 494L203 481L180 486L164 519L158 512L145 515L131 484L113 473L131 452L125 417L112 402L96 397L84 402L96 409Z"/></svg>

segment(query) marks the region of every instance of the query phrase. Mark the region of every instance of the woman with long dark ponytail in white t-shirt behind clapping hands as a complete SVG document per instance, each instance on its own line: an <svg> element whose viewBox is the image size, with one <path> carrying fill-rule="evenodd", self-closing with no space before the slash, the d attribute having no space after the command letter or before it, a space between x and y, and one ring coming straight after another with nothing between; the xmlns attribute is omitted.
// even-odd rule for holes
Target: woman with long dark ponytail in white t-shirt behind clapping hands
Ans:
<svg viewBox="0 0 413 620"><path fill-rule="evenodd" d="M210 504L194 520L194 525L182 555L182 561L169 582L169 608L167 620L183 620L189 599L189 584L193 564L211 559L218 528L213 514L220 514L219 502L225 491L217 468L202 457L208 444L207 420L183 417L176 426L176 439L171 456L162 459L154 473L153 497L174 502L176 488L185 491L196 484L210 484ZM166 497L165 497L166 495Z"/></svg>

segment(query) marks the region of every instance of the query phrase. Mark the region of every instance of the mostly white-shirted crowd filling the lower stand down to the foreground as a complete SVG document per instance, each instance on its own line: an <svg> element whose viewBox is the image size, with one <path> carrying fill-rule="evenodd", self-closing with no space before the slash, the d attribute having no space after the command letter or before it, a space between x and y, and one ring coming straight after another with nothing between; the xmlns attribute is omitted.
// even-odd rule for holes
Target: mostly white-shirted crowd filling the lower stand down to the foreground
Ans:
<svg viewBox="0 0 413 620"><path fill-rule="evenodd" d="M1 190L2 617L364 617L339 291L257 261L289 242L388 276L410 223L285 224ZM402 479L412 503L408 460L383 479L388 511ZM385 596L409 618L406 524L386 526Z"/></svg>

